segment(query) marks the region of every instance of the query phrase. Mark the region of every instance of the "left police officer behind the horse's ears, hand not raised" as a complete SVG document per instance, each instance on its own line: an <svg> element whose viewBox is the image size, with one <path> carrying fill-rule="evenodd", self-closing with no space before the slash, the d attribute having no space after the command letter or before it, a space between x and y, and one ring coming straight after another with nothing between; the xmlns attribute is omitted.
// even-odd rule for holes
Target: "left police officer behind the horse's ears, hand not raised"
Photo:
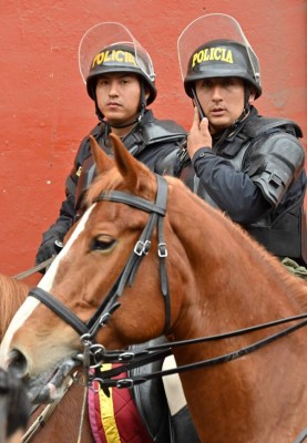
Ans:
<svg viewBox="0 0 307 443"><path fill-rule="evenodd" d="M79 48L81 75L95 104L99 123L91 131L112 156L110 132L119 135L135 158L162 174L186 132L147 110L156 97L155 73L149 53L120 23L99 23L88 30ZM89 136L82 141L66 179L66 199L57 222L43 234L35 262L59 253L59 246L82 214L82 197L94 177Z"/></svg>

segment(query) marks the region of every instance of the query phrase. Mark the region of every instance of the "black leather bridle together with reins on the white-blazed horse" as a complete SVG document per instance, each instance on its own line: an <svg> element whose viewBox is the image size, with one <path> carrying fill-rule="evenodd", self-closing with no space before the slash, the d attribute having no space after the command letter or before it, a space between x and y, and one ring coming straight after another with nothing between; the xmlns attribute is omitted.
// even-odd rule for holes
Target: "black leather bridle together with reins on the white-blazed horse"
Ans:
<svg viewBox="0 0 307 443"><path fill-rule="evenodd" d="M250 328L226 332L223 334L202 337L194 340L172 341L170 343L147 347L139 352L131 352L124 350L106 351L103 346L94 343L93 341L99 329L108 323L112 313L121 306L119 299L124 288L126 286L133 285L139 266L142 259L149 254L149 250L151 248L151 238L155 227L157 228L157 238L158 238L157 255L160 257L161 291L165 301L164 333L170 331L171 298L170 298L167 272L166 272L167 247L163 238L163 220L164 220L163 217L166 213L167 182L160 175L156 175L156 179L157 179L157 192L154 203L135 195L116 190L102 193L95 200L95 202L101 202L101 200L115 202L135 207L137 209L150 213L150 219L145 225L139 240L134 246L132 254L130 255L126 261L126 265L124 266L115 284L106 295L104 301L101 303L94 316L86 323L81 321L78 316L75 316L71 310L69 310L61 301L55 299L50 292L38 287L33 288L29 292L29 296L35 297L38 300L43 302L48 308L53 310L60 318L62 318L66 323L69 323L81 336L81 341L84 347L84 352L83 354L79 354L76 359L83 362L84 370L88 373L90 368L94 369L94 374L89 375L89 381L90 382L92 382L93 380L99 381L102 389L106 391L109 388L112 387L132 388L134 384L140 384L145 382L146 380L151 380L154 378L162 378L164 375L170 375L173 373L181 373L188 370L201 369L232 361L243 356L246 356L250 352L254 352L257 349L260 349L269 344L270 342L282 337L285 337L307 324L307 313L305 312L299 316L288 317L263 324L257 324ZM297 322L298 320L301 321ZM218 356L216 358L202 360L195 363L185 364L164 371L151 372L142 374L141 377L135 375L132 378L112 380L113 377L126 372L127 370L149 364L150 362L161 360L172 354L173 353L172 350L175 347L195 344L206 341L225 340L232 337L243 336L257 330L272 328L278 324L284 324L293 321L295 321L296 324L287 327L286 329L276 332L263 340L256 341L247 347L244 347L242 349L235 350L233 352L223 356ZM116 363L120 362L122 363L122 365L111 369L109 371L101 371L101 365L104 362L116 362Z"/></svg>

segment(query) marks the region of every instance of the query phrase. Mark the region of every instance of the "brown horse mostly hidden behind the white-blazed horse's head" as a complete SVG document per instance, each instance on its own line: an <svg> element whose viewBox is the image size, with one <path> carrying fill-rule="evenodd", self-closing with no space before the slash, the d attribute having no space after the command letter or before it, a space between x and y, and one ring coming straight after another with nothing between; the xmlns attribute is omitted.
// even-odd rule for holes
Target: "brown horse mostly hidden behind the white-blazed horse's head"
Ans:
<svg viewBox="0 0 307 443"><path fill-rule="evenodd" d="M17 281L0 274L0 342L13 315L23 303L29 290L30 287L22 281ZM83 394L84 388L82 385L72 384L52 413L50 406L39 406L30 418L28 430L33 426L39 416L42 415L43 420L40 421L41 424L38 424L38 431L27 441L33 443L75 443L79 436ZM86 443L94 442L88 408L84 414L81 441Z"/></svg>

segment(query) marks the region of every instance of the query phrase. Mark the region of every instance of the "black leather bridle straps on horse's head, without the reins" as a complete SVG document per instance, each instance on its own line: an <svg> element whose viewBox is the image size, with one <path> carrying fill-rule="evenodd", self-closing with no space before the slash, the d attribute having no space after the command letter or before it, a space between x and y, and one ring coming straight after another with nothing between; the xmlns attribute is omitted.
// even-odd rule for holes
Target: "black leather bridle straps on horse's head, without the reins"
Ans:
<svg viewBox="0 0 307 443"><path fill-rule="evenodd" d="M164 332L170 329L171 302L165 261L167 257L167 248L163 237L163 220L166 213L167 203L167 182L160 175L156 175L156 181L157 190L154 203L145 198L119 190L104 192L94 200L94 203L101 200L123 203L124 205L150 213L150 219L115 284L104 298L103 302L100 305L96 312L86 323L80 320L78 316L75 316L69 308L66 308L61 301L55 299L44 289L37 287L31 289L29 292L29 296L32 296L43 302L62 320L69 323L80 336L86 336L88 340L94 339L99 329L106 324L112 313L120 307L117 299L122 295L124 288L133 285L135 274L141 265L141 261L150 251L151 238L155 227L157 228L157 255L160 259L161 291L165 300Z"/></svg>

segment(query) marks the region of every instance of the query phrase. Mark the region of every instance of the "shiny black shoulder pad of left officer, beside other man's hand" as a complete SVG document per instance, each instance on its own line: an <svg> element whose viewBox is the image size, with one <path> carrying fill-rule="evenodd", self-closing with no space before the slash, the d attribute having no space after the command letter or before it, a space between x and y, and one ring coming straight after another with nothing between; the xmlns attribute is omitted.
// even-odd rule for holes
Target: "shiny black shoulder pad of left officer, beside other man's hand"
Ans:
<svg viewBox="0 0 307 443"><path fill-rule="evenodd" d="M149 122L142 127L146 145L158 142L180 141L186 137L186 131L171 120L157 120Z"/></svg>

